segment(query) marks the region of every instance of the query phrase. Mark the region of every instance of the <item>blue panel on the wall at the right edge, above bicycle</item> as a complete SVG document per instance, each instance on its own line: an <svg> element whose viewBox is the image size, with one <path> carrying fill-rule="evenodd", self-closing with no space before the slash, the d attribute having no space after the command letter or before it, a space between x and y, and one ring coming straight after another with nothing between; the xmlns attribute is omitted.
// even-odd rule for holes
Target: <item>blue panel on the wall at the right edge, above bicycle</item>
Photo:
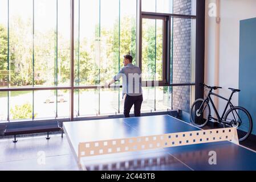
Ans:
<svg viewBox="0 0 256 182"><path fill-rule="evenodd" d="M256 18L240 21L239 106L249 110L256 135Z"/></svg>

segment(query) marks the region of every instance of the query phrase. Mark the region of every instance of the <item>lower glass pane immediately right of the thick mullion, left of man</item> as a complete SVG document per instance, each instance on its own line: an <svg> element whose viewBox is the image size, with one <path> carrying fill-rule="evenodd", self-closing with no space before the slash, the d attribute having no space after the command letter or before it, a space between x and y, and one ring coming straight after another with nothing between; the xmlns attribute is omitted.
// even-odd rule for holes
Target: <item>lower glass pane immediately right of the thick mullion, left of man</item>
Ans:
<svg viewBox="0 0 256 182"><path fill-rule="evenodd" d="M74 117L96 116L99 114L99 90L75 90Z"/></svg>

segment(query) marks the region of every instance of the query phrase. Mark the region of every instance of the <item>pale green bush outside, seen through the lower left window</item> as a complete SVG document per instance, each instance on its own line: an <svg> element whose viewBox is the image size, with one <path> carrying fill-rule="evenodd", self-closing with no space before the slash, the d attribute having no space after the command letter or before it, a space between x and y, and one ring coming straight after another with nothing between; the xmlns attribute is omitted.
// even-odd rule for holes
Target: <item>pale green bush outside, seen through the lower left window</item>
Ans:
<svg viewBox="0 0 256 182"><path fill-rule="evenodd" d="M36 117L36 113L34 116ZM27 103L21 106L15 105L11 108L11 116L13 119L29 119L32 118L32 105Z"/></svg>

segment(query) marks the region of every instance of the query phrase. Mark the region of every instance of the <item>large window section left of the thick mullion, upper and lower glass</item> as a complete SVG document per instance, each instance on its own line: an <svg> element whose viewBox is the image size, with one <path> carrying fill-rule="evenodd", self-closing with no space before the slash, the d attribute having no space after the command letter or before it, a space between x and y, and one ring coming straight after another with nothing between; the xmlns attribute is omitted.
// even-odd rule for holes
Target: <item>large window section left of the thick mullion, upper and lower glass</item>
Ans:
<svg viewBox="0 0 256 182"><path fill-rule="evenodd" d="M69 86L70 0L0 3L0 87ZM60 92L1 92L1 120L69 117L70 90Z"/></svg>

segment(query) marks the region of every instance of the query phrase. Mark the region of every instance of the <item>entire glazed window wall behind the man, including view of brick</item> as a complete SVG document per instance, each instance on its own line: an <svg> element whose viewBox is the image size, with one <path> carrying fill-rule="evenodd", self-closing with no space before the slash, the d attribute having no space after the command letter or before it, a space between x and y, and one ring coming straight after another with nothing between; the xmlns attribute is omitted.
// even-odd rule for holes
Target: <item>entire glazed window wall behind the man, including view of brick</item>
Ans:
<svg viewBox="0 0 256 182"><path fill-rule="evenodd" d="M123 113L121 80L103 85L128 53L159 84L143 85L142 112L193 100L194 0L1 0L0 43L1 122Z"/></svg>

